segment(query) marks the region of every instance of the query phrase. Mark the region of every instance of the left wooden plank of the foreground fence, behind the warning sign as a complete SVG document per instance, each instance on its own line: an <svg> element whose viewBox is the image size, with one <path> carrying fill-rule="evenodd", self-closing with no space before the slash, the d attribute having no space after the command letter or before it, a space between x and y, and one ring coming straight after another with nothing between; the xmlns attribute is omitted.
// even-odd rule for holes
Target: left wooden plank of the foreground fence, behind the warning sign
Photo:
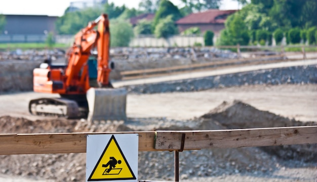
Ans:
<svg viewBox="0 0 317 182"><path fill-rule="evenodd" d="M139 151L154 151L154 131L49 134L0 134L0 155L86 153L89 134L138 133Z"/></svg>

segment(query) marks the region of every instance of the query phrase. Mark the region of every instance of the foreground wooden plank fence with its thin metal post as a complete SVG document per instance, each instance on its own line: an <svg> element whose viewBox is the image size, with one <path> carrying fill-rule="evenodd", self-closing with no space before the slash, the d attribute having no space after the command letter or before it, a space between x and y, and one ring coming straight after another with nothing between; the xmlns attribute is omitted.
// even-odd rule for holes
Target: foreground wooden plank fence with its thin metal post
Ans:
<svg viewBox="0 0 317 182"><path fill-rule="evenodd" d="M179 181L179 152L316 144L317 126L227 130L140 131L95 133L0 134L0 155L86 153L88 134L138 133L139 151L174 151L175 181Z"/></svg>

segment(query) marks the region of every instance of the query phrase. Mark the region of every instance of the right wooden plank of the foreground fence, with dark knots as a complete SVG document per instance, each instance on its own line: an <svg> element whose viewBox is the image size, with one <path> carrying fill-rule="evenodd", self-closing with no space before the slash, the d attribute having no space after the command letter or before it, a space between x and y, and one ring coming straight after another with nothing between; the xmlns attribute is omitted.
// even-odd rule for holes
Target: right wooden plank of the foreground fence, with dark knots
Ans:
<svg viewBox="0 0 317 182"><path fill-rule="evenodd" d="M155 149L179 150L182 133L185 133L184 150L317 143L317 126L207 131L156 131Z"/></svg>

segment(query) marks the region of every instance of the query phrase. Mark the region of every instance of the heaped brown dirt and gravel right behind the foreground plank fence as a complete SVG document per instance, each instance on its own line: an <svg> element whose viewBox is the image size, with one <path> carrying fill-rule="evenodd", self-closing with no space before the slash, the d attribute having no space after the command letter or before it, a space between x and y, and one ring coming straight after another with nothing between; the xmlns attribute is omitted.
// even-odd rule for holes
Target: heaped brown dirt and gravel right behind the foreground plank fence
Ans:
<svg viewBox="0 0 317 182"><path fill-rule="evenodd" d="M258 121L262 118L261 121ZM316 123L309 122L309 125ZM0 117L1 133L98 132L155 129L225 129L304 125L235 101L224 102L200 118L177 121L166 118L133 118L127 122L101 121L91 126L85 120L48 119L30 121L10 116ZM180 179L209 176L255 175L271 176L285 167L316 168L316 145L278 148L236 148L183 151L180 157ZM294 153L294 150L297 151ZM274 151L274 152L271 152ZM292 158L284 154L292 153ZM86 173L85 154L37 154L0 156L0 173L54 181L83 181ZM173 180L174 153L139 152L138 178ZM313 181L315 176L303 176ZM208 178L206 178L208 181ZM205 180L205 181L206 181Z"/></svg>

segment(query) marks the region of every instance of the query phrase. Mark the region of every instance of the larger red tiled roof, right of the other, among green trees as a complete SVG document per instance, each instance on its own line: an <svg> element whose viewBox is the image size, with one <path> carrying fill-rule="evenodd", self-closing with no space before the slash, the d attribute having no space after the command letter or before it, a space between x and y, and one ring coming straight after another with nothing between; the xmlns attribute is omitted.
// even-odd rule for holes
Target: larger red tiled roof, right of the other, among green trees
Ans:
<svg viewBox="0 0 317 182"><path fill-rule="evenodd" d="M179 19L176 24L209 24L224 23L228 15L233 14L237 10L208 10L200 13L192 13L184 18Z"/></svg>

